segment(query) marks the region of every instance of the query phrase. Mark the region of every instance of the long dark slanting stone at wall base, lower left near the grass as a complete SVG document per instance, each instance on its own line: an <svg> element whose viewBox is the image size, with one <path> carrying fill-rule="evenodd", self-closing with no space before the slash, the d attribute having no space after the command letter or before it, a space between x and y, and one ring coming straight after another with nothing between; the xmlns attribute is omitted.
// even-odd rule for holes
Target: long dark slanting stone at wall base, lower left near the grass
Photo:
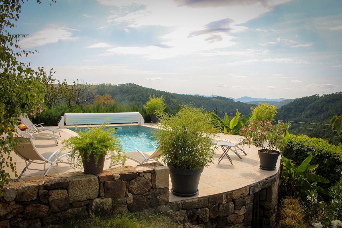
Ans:
<svg viewBox="0 0 342 228"><path fill-rule="evenodd" d="M97 179L97 177L95 177ZM67 211L62 211L56 214L52 214L48 217L45 217L42 219L41 226L49 226L49 225L58 225L66 223L69 220L83 220L88 218L88 212L87 207L77 207L77 208L71 208Z"/></svg>

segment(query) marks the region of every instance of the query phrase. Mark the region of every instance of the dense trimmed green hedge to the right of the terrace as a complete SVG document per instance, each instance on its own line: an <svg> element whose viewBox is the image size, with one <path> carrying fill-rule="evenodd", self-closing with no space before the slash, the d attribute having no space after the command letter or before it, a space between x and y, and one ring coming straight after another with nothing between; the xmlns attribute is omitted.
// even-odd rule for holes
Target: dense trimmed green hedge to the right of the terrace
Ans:
<svg viewBox="0 0 342 228"><path fill-rule="evenodd" d="M321 138L310 138L306 135L290 135L288 147L282 155L300 165L309 155L312 155L310 164L318 164L316 174L329 179L329 184L322 184L328 188L335 184L342 171L342 146L329 144Z"/></svg>

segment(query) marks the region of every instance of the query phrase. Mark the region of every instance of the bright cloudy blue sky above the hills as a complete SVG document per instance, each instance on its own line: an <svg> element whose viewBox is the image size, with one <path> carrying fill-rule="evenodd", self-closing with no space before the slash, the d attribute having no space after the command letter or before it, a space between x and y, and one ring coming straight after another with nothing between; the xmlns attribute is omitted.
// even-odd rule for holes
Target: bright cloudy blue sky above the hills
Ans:
<svg viewBox="0 0 342 228"><path fill-rule="evenodd" d="M342 91L341 0L24 2L18 60L54 78L177 94L300 98Z"/></svg>

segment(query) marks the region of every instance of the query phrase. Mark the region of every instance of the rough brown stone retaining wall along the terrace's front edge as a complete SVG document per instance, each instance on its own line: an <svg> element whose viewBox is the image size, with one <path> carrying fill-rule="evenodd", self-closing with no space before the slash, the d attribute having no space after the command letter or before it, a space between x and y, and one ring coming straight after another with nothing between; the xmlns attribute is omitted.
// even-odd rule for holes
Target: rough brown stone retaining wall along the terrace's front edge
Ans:
<svg viewBox="0 0 342 228"><path fill-rule="evenodd" d="M158 208L183 223L210 227L274 227L278 175L218 195L169 203L169 169L157 163L16 180L0 198L0 228L44 227L90 213L110 215Z"/></svg>

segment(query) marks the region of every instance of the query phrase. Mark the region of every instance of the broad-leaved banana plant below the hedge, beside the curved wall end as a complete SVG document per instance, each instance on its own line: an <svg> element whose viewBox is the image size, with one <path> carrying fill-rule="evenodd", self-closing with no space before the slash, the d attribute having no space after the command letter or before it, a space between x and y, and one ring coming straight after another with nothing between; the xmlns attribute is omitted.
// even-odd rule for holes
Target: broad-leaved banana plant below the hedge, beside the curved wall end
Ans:
<svg viewBox="0 0 342 228"><path fill-rule="evenodd" d="M308 156L299 166L295 161L285 157L281 158L281 177L279 180L279 192L282 196L306 198L306 190L317 190L321 193L328 192L317 186L317 182L329 183L329 180L313 173L318 165L310 165L312 155Z"/></svg>

